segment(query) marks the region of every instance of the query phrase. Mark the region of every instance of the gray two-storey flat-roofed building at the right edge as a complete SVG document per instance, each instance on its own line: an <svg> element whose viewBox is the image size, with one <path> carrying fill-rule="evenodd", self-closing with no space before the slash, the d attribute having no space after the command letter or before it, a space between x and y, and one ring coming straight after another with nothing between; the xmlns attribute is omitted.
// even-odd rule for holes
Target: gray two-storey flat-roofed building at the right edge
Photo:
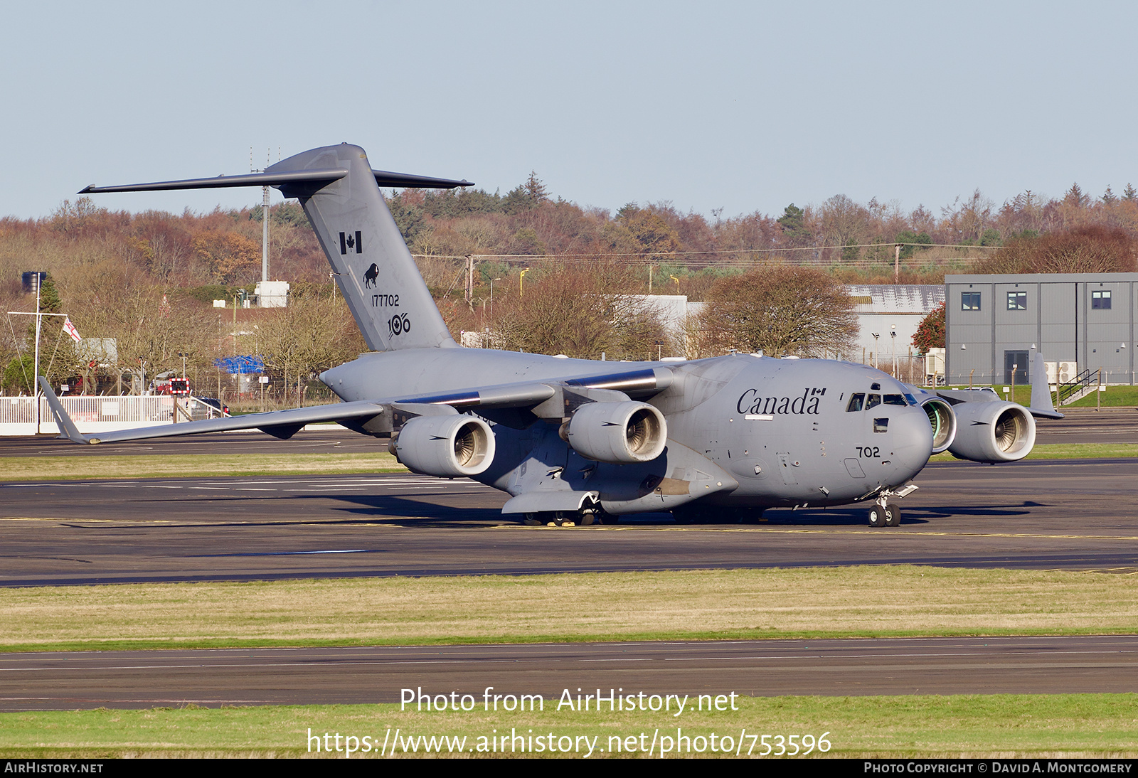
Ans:
<svg viewBox="0 0 1138 778"><path fill-rule="evenodd" d="M949 383L1028 382L1034 346L1063 373L1135 382L1138 273L946 275ZM1073 364L1070 364L1073 363Z"/></svg>

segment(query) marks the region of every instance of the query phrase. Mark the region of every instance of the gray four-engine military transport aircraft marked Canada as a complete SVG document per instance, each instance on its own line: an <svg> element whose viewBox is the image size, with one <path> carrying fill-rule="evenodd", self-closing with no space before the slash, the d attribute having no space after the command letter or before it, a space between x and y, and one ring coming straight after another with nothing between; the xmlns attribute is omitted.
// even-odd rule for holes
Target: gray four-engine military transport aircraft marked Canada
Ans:
<svg viewBox="0 0 1138 778"><path fill-rule="evenodd" d="M872 500L897 525L897 498L932 454L1021 460L1052 405L1042 361L1031 408L991 390L926 391L860 364L749 354L611 363L480 348L451 338L380 187L467 181L373 171L347 143L263 173L81 193L275 187L297 198L372 349L320 375L341 403L81 434L42 378L63 436L98 444L259 429L289 438L335 421L377 438L417 473L472 478L511 495L526 524L592 524L670 511L677 521L745 521L768 507Z"/></svg>

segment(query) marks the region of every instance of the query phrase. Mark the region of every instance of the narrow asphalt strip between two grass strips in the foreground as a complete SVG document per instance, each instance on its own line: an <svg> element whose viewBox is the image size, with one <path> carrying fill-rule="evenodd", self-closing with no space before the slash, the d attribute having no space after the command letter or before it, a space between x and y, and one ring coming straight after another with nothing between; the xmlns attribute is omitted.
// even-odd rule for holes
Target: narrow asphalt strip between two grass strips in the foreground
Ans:
<svg viewBox="0 0 1138 778"><path fill-rule="evenodd" d="M828 696L1138 692L1138 636L724 640L0 655L0 710L401 702L402 689ZM451 713L453 715L453 713ZM703 715L707 715L704 712ZM693 720L694 719L694 720ZM699 725L699 713L683 726ZM671 718L668 721L673 721ZM319 726L314 723L314 726Z"/></svg>

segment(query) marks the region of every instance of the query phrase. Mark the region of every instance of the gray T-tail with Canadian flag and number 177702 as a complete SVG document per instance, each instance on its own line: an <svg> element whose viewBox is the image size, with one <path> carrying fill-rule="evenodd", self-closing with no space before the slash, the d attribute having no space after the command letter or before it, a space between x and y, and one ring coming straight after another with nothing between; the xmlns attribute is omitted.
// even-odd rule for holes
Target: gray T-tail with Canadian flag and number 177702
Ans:
<svg viewBox="0 0 1138 778"><path fill-rule="evenodd" d="M363 149L341 143L282 159L264 173L88 187L80 193L263 185L299 199L369 348L456 346L379 188L453 189L468 181L373 171Z"/></svg>

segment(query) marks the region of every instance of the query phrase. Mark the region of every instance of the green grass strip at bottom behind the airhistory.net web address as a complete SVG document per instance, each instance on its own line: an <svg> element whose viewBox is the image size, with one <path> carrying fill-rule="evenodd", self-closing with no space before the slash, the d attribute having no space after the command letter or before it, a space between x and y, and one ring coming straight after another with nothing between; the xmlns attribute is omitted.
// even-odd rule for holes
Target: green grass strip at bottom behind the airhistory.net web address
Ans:
<svg viewBox="0 0 1138 778"><path fill-rule="evenodd" d="M778 751L790 756L795 748L805 756L902 759L1138 753L1138 695L1132 694L736 697L734 704L739 710L699 711L691 698L678 717L675 709L559 711L551 700L543 710L495 712L485 711L480 698L469 712L307 705L0 713L0 758L345 758L347 747L355 750L351 755L372 759L393 755L393 747L399 756L593 759L649 756L650 746L652 756L660 756L661 747L670 756L734 756L736 748L740 756L769 751L770 758ZM512 748L495 739L511 733L521 736L508 740ZM769 736L766 743L762 735ZM427 739L432 736L462 739L432 744ZM802 753L807 747L811 753Z"/></svg>

